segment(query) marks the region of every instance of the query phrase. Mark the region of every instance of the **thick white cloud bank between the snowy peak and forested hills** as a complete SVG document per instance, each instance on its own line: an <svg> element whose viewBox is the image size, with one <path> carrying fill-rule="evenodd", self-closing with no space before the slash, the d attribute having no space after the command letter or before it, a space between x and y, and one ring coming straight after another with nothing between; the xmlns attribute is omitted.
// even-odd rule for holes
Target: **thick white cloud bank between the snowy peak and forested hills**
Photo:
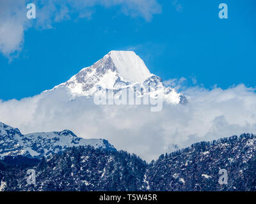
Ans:
<svg viewBox="0 0 256 204"><path fill-rule="evenodd" d="M22 133L70 129L84 138L106 138L117 149L156 159L175 145L186 147L241 133L256 133L256 94L243 84L230 89L182 87L186 105L96 106L85 97L72 101L65 89L33 98L0 102L0 121Z"/></svg>

